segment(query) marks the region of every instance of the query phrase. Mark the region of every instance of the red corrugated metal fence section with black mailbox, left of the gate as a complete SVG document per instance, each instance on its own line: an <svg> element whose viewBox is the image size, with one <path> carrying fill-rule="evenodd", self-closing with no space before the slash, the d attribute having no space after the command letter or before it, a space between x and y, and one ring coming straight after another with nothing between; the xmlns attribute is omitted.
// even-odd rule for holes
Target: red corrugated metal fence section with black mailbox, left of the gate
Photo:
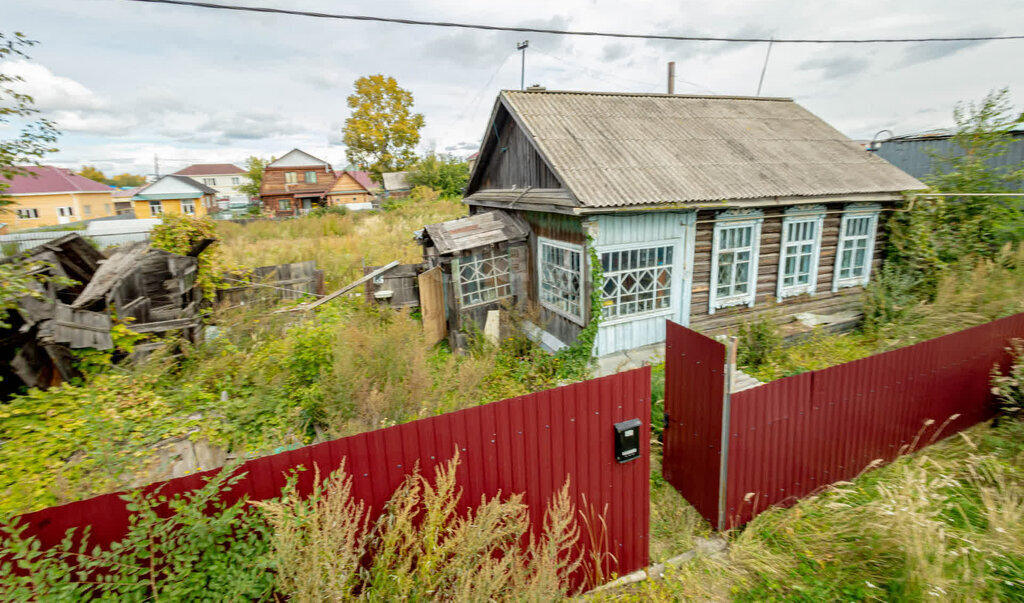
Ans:
<svg viewBox="0 0 1024 603"><path fill-rule="evenodd" d="M624 574L645 567L648 560L649 417L650 370L638 369L255 459L242 465L246 477L225 498L271 499L280 496L290 470L315 464L327 474L347 459L353 494L376 514L417 464L425 475L432 475L434 467L450 460L458 447L463 509L478 503L481 496L523 492L530 523L539 533L545 506L569 478L572 500L581 511L584 496L598 513L607 505L605 552L614 561L605 571ZM641 456L618 464L613 424L634 418L643 422ZM213 473L148 488L159 487L166 496L187 492ZM311 489L311 473L299 474L303 494ZM92 526L90 543L105 546L126 533L125 505L119 494L104 494L43 509L20 520L29 525L26 535L38 536L47 548L58 544L68 529L86 525ZM583 546L586 549L589 543Z"/></svg>

